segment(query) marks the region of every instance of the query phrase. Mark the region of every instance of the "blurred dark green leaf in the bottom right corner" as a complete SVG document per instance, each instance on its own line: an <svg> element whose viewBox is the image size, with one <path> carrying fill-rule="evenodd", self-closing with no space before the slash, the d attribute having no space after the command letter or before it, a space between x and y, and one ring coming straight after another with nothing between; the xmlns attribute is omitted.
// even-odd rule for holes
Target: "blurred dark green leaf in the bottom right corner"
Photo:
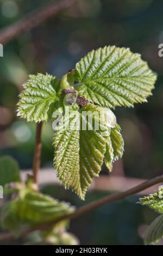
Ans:
<svg viewBox="0 0 163 256"><path fill-rule="evenodd" d="M163 215L157 217L148 227L145 236L145 245L155 245L163 238Z"/></svg>

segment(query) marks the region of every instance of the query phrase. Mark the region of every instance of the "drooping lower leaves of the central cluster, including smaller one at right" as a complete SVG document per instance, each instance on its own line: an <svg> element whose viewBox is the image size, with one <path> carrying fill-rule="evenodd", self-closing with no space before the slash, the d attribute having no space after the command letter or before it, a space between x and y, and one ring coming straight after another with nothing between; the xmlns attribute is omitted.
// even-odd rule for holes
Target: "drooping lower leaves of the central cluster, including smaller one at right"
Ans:
<svg viewBox="0 0 163 256"><path fill-rule="evenodd" d="M81 199L84 199L93 178L99 175L104 157L106 166L111 170L112 162L123 153L120 126L112 121L112 112L104 108L103 111L102 114L101 107L93 104L83 106L79 112L71 112L71 128L59 126L55 131L54 167L57 176L66 188L72 188ZM77 127L79 120L80 127ZM66 115L64 121L66 123ZM113 123L115 127L110 128Z"/></svg>

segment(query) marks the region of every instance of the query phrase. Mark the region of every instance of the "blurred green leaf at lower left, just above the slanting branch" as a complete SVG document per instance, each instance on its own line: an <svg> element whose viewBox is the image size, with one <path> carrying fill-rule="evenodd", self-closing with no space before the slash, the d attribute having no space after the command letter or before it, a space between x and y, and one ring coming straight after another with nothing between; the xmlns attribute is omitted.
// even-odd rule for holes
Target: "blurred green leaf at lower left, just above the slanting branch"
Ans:
<svg viewBox="0 0 163 256"><path fill-rule="evenodd" d="M1 209L1 223L4 229L18 229L24 224L37 224L53 221L70 214L74 208L65 202L58 202L41 193L21 190L17 199Z"/></svg>

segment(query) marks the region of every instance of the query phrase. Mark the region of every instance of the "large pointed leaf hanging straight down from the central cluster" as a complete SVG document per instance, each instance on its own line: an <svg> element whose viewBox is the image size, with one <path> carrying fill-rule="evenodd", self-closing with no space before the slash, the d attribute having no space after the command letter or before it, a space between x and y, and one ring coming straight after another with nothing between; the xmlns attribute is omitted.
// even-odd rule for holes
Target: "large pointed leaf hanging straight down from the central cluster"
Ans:
<svg viewBox="0 0 163 256"><path fill-rule="evenodd" d="M87 106L88 108L89 106ZM91 106L90 106L91 108ZM73 124L80 119L90 126L82 114L74 111ZM58 129L54 135L54 167L59 180L66 188L72 188L84 199L92 179L99 175L105 154L105 138L99 131Z"/></svg>

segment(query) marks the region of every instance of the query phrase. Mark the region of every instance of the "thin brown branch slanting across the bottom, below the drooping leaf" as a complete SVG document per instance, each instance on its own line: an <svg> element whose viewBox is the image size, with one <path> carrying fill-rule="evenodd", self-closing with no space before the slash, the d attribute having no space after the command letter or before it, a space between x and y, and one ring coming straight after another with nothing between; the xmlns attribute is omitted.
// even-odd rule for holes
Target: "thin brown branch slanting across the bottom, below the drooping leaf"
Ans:
<svg viewBox="0 0 163 256"><path fill-rule="evenodd" d="M35 231L35 230L48 229L48 228L52 227L52 225L54 225L54 224L56 224L56 223L58 223L62 220L67 220L67 219L72 220L74 218L77 218L80 215L85 214L86 212L95 210L96 208L98 208L102 205L108 204L110 202L114 202L116 200L120 200L120 199L128 197L132 194L135 194L135 193L138 193L140 191L146 190L146 188L151 187L155 184L159 184L160 182L163 182L163 175L158 176L156 178L153 178L151 180L145 181L145 182L141 183L140 185L137 185L133 188L130 188L129 190L126 190L124 192L111 194L110 196L99 199L96 202L86 204L85 206L80 207L79 209L77 209L72 214L62 216L62 217L58 218L55 221L51 221L51 222L43 223L43 224L38 224L38 225L35 225L34 227L29 227L28 229L26 229L22 232L21 237L26 236L26 235L28 235L29 233L31 233L32 231ZM11 240L11 239L14 239L14 238L15 238L14 235L10 232L9 233L4 233L0 236L0 242L8 241L8 240Z"/></svg>

